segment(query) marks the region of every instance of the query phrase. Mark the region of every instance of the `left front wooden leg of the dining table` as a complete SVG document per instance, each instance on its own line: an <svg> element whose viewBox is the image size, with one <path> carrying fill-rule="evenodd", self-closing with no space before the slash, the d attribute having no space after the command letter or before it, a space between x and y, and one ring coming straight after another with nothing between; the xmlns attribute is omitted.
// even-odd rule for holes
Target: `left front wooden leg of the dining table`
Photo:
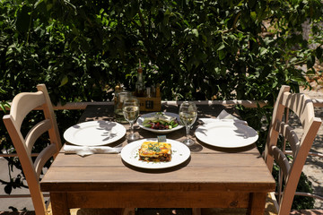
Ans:
<svg viewBox="0 0 323 215"><path fill-rule="evenodd" d="M66 193L50 193L52 215L70 215Z"/></svg>

